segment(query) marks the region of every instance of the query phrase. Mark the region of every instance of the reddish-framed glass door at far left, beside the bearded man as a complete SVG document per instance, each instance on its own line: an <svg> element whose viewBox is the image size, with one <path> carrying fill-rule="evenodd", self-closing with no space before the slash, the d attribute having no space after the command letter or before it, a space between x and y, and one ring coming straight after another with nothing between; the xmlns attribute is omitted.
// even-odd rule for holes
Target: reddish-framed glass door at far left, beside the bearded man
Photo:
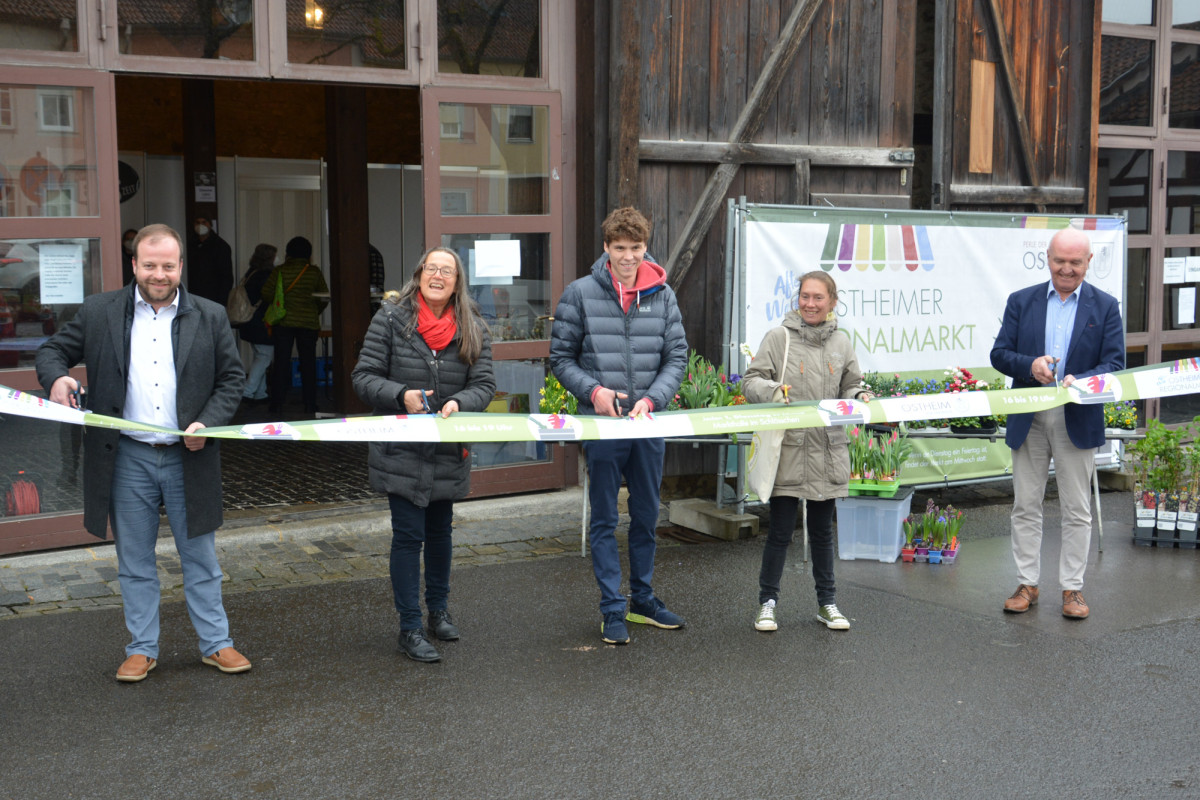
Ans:
<svg viewBox="0 0 1200 800"><path fill-rule="evenodd" d="M10 67L0 79L0 384L41 393L37 347L86 295L121 282L113 76ZM83 367L76 368L84 377ZM82 429L0 421L0 553L83 531ZM30 491L32 486L36 491ZM14 491L14 488L17 491Z"/></svg>

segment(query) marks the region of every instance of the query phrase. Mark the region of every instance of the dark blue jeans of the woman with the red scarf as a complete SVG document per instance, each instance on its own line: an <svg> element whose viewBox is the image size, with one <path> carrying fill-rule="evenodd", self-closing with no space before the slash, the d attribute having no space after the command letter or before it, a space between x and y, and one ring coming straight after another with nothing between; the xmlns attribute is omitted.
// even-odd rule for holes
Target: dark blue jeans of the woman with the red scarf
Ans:
<svg viewBox="0 0 1200 800"><path fill-rule="evenodd" d="M398 494L391 506L391 594L400 613L400 630L421 627L421 548L425 548L425 607L445 610L450 597L454 543L454 500L434 500L426 509Z"/></svg>

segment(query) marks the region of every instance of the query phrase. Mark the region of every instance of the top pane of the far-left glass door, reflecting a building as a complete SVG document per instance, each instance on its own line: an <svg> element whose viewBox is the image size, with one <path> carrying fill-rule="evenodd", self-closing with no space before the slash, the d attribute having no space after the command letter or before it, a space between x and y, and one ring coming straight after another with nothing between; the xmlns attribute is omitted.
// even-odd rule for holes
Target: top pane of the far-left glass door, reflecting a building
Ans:
<svg viewBox="0 0 1200 800"><path fill-rule="evenodd" d="M0 217L97 213L92 90L0 84Z"/></svg>

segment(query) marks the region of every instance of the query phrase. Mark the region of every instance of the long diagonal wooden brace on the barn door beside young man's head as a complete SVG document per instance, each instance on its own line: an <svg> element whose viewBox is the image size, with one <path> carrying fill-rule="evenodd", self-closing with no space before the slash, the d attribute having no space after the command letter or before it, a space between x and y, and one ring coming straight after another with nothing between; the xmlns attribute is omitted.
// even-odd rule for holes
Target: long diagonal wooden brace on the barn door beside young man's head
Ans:
<svg viewBox="0 0 1200 800"><path fill-rule="evenodd" d="M738 120L733 125L730 142L749 142L758 133L763 120L770 110L772 102L779 94L779 85L784 82L785 74L787 74L787 71L794 64L796 56L800 50L800 43L808 35L809 28L812 25L812 18L816 17L817 8L820 7L821 0L799 0L793 6L792 16L788 17L787 23L780 30L779 41L775 42L770 55L767 56L762 73L758 76L758 80L755 82L754 88L750 90L750 96L746 98L746 106L742 109L742 114L738 115ZM708 234L716 212L724 205L725 193L728 191L730 184L733 182L733 176L737 172L737 164L722 163L718 166L712 176L709 176L708 184L704 185L704 191L701 192L700 198L696 200L696 205L692 207L691 215L688 217L688 222L684 224L683 231L676 240L671 255L667 258L666 270L673 289L679 288L679 284L688 275L688 270L691 269L696 252Z"/></svg>

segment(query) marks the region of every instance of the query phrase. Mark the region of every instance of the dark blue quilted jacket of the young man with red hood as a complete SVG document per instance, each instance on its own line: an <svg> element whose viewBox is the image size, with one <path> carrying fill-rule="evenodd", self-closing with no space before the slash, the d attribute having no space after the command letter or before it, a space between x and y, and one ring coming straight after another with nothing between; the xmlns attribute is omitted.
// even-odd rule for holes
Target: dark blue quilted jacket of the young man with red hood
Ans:
<svg viewBox="0 0 1200 800"><path fill-rule="evenodd" d="M626 314L612 285L608 255L601 255L592 275L572 282L558 301L550 366L578 398L580 414L595 413L596 386L628 393L624 414L642 397L655 411L665 411L688 368L688 339L674 291L660 281L641 291Z"/></svg>

